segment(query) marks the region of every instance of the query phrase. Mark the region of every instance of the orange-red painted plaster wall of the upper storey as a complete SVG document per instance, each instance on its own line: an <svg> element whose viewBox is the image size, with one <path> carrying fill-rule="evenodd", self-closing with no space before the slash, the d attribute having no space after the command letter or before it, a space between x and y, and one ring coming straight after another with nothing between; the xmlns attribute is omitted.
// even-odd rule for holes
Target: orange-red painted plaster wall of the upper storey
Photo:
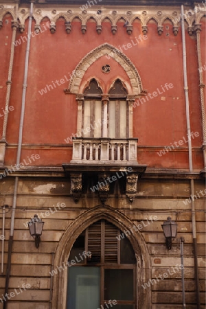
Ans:
<svg viewBox="0 0 206 309"><path fill-rule="evenodd" d="M135 41L135 38L138 38L142 33L139 21L133 23L133 34L130 36L126 34L126 28L122 22L118 23L117 34L115 35L111 33L111 23L109 22L103 23L102 34L100 35L97 34L95 23L92 21L87 23L87 33L84 35L81 32L79 21L73 21L69 35L65 32L65 21L63 19L57 21L55 34L51 34L47 30L46 23L46 19L41 23L41 27L45 31L34 36L31 41L21 159L23 160L34 153L39 154L41 158L33 165L61 165L71 159L72 149L65 139L70 137L72 133L76 133L76 97L75 95L66 95L63 91L68 87L69 82L56 86L54 89L50 87L51 90L47 90L47 93L43 95L39 91L47 85L53 84L55 80L64 78L64 76L69 79L78 62L95 47L109 43L119 48L119 46L122 47L122 45L131 43L131 40ZM21 35L18 32L16 39L19 40L21 36L26 36L26 32L27 21L24 34ZM32 32L34 33L34 22ZM9 29L8 25L3 25L0 31L1 40L6 33L10 38L10 25ZM196 41L186 33L186 43L191 128L192 131L199 133L199 137L192 140L192 146L200 148L202 128ZM10 100L10 105L14 106L15 111L10 113L8 120L7 140L10 147L6 150L5 157L5 164L8 165L14 165L16 161L15 145L18 143L19 136L25 48L26 42L15 48ZM203 53L204 51L203 47ZM130 49L123 49L123 52L137 68L143 88L147 89L148 93L157 91L157 89L161 90L165 83L172 83L174 86L133 109L133 133L134 137L139 138L139 163L148 164L148 167L155 168L188 168L187 151L168 152L162 157L157 155L158 147L170 146L175 141L187 137L181 29L179 34L174 36L171 23L165 22L164 32L159 36L157 25L150 22L148 38ZM3 45L1 57L5 59L3 75L1 74L2 82L5 82L8 75L8 46ZM106 63L111 65L111 73L109 74L100 71L102 65ZM123 76L125 79L127 78L122 67L115 60L108 60L105 56L93 63L84 79L87 80L91 76L98 76L103 80L107 89L115 77ZM2 97L4 95L3 93ZM0 103L1 106L4 106L5 98L2 100L2 97ZM0 117L0 125L1 122ZM29 149L30 146L36 147ZM49 150L47 146L56 147ZM187 145L184 144L183 147L187 147ZM194 168L203 168L203 154L200 149L194 152L193 157Z"/></svg>

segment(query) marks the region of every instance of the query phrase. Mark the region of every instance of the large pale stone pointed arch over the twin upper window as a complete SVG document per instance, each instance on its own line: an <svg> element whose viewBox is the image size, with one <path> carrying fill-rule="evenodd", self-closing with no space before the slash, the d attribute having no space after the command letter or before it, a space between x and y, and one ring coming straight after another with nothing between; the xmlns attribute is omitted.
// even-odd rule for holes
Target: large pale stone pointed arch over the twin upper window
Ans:
<svg viewBox="0 0 206 309"><path fill-rule="evenodd" d="M82 58L82 60L78 63L69 82L69 92L80 93L80 84L84 78L84 73L86 73L87 69L93 64L93 62L104 55L108 55L113 58L123 67L124 71L126 71L133 89L132 93L129 94L138 95L141 93L143 90L141 78L135 65L124 53L108 43L104 43L103 45L96 47L89 52L89 54L84 56L84 58Z"/></svg>

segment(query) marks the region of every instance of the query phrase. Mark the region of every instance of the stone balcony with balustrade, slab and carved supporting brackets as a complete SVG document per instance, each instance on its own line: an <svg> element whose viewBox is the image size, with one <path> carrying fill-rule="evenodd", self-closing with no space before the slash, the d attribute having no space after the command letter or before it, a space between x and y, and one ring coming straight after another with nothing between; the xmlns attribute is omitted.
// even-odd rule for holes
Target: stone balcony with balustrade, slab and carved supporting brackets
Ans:
<svg viewBox="0 0 206 309"><path fill-rule="evenodd" d="M63 163L66 176L71 181L71 194L78 203L85 192L82 179L99 183L98 195L104 204L111 192L111 181L122 178L126 196L130 203L137 194L137 181L144 174L146 165L137 162L137 139L86 138L73 139L70 163ZM120 174L119 174L120 173ZM120 176L119 176L120 175ZM94 183L94 185L95 185ZM90 192L91 194L91 192Z"/></svg>

